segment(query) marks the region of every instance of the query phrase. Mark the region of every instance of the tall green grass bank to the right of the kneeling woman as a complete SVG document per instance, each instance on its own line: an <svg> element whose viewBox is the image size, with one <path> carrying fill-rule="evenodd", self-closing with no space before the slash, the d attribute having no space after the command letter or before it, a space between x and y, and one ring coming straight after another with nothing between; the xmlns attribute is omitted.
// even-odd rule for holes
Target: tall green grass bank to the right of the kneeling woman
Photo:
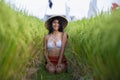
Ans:
<svg viewBox="0 0 120 80"><path fill-rule="evenodd" d="M66 32L79 67L77 71L89 72L95 80L120 80L119 13L116 10L111 15L101 14L69 24Z"/></svg>

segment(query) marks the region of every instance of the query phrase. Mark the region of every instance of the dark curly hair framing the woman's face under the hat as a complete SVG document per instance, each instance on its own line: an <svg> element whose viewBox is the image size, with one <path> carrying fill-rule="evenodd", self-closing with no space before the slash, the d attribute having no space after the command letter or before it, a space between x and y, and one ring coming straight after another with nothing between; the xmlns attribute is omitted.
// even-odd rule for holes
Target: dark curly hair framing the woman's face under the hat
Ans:
<svg viewBox="0 0 120 80"><path fill-rule="evenodd" d="M59 18L53 18L50 22L49 22L49 25L48 25L48 34L52 33L54 31L53 27L52 27L52 23L54 20L58 20L59 22L59 29L58 31L60 32L63 32L63 25L62 25L62 21L59 19Z"/></svg>

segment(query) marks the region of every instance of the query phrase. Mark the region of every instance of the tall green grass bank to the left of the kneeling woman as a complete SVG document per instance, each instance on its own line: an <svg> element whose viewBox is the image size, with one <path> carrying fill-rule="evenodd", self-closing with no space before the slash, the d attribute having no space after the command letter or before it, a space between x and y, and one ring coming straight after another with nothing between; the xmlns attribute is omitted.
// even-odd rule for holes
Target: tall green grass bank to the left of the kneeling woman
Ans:
<svg viewBox="0 0 120 80"><path fill-rule="evenodd" d="M40 20L0 6L0 80L21 80L41 57L46 30Z"/></svg>

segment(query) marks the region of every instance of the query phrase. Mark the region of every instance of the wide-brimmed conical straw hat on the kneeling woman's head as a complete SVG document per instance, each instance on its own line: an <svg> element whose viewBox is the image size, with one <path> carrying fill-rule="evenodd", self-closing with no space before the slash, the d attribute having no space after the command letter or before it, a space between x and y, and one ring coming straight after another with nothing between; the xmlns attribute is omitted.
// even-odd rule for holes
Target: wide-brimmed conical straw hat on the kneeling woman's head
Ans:
<svg viewBox="0 0 120 80"><path fill-rule="evenodd" d="M66 19L65 17L63 17L63 16L52 16L52 17L48 18L48 19L46 20L46 22L45 22L45 27L46 27L47 29L49 29L48 27L49 27L49 25L50 25L50 23L51 23L51 21L52 21L53 19L59 19L59 20L61 20L61 21L62 21L62 27L63 27L63 29L64 29L64 28L67 26L67 24L68 24L68 21L67 21L67 19Z"/></svg>

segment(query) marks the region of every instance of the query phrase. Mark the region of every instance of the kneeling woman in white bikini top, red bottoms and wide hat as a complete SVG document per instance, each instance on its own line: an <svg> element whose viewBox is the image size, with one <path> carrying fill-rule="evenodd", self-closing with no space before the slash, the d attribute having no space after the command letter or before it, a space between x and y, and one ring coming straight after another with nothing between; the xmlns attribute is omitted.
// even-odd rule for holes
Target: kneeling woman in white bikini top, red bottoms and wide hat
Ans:
<svg viewBox="0 0 120 80"><path fill-rule="evenodd" d="M61 73L67 67L64 56L67 35L63 32L67 24L68 21L62 16L51 17L45 22L49 33L44 37L44 55L49 73Z"/></svg>

